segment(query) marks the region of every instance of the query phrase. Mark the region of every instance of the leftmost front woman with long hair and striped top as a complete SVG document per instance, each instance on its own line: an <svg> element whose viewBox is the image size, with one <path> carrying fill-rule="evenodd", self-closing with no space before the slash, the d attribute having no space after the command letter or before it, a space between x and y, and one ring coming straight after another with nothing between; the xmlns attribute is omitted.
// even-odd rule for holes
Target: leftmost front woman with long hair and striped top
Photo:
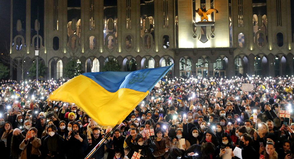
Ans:
<svg viewBox="0 0 294 159"><path fill-rule="evenodd" d="M3 158L9 158L10 156L10 146L11 146L11 138L12 138L12 134L13 133L13 129L12 129L12 125L10 122L5 122L4 124L4 131L0 133L0 139L4 142L5 144L5 148L3 151Z"/></svg>

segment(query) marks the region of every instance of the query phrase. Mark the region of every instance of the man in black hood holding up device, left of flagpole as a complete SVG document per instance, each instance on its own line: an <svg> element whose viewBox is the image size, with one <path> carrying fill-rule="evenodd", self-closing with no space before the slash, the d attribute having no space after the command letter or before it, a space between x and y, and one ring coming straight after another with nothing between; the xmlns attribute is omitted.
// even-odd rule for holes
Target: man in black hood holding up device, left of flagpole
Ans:
<svg viewBox="0 0 294 159"><path fill-rule="evenodd" d="M87 136L81 133L80 124L74 123L72 131L69 131L65 139L66 156L71 159L83 159L86 157L85 150L88 147Z"/></svg>

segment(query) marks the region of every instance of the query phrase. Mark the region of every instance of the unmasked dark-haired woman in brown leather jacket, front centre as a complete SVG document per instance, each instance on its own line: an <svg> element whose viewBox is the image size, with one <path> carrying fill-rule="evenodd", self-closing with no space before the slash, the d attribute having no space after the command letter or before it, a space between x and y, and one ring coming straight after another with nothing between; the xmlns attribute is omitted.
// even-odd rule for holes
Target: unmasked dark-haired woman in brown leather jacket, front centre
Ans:
<svg viewBox="0 0 294 159"><path fill-rule="evenodd" d="M154 150L153 155L156 159L166 159L171 145L171 141L168 137L168 129L164 130L163 128L158 127L155 130L155 135L156 139L154 140L154 143L156 149Z"/></svg>

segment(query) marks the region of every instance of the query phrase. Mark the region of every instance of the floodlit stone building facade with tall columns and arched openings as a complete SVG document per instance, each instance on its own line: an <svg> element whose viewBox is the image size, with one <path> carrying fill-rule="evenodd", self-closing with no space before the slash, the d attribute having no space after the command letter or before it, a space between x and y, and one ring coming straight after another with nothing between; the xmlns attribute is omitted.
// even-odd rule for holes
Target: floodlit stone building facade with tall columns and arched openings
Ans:
<svg viewBox="0 0 294 159"><path fill-rule="evenodd" d="M99 72L116 60L121 71L174 63L169 77L293 75L291 3L11 0L10 56L25 61L23 68L11 62L11 78L27 77L38 47L39 61L47 67L45 79L66 78L64 66L72 59L81 62L84 72ZM198 8L218 13L203 22Z"/></svg>

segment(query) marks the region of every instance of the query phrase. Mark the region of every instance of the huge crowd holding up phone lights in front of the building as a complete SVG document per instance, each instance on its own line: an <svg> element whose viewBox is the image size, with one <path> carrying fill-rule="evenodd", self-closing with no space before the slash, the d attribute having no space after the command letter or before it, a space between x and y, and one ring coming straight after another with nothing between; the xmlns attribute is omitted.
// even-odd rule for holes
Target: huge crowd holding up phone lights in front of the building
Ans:
<svg viewBox="0 0 294 159"><path fill-rule="evenodd" d="M0 158L81 159L111 131L74 103L46 100L64 82L0 81ZM293 158L293 76L159 84L92 158Z"/></svg>

